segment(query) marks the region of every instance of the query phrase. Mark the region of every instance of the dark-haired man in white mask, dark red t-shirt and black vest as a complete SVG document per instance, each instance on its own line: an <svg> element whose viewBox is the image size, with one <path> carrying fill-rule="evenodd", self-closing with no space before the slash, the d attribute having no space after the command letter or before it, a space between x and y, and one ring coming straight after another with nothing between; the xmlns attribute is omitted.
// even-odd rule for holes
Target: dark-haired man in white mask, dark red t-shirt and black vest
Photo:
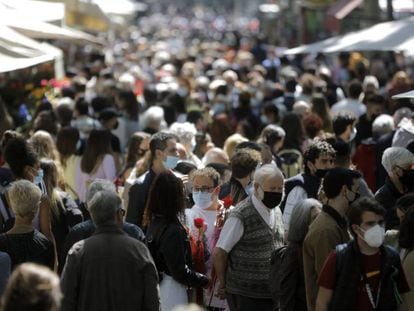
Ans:
<svg viewBox="0 0 414 311"><path fill-rule="evenodd" d="M338 245L319 275L316 310L398 310L409 291L398 253L383 246L385 209L374 199L348 213L354 240Z"/></svg>

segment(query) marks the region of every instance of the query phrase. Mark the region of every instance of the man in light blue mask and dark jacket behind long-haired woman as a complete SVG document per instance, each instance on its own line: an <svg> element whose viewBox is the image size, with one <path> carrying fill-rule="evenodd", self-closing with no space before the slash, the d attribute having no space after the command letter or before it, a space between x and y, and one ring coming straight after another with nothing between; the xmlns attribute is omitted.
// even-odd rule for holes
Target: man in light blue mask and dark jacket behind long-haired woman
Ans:
<svg viewBox="0 0 414 311"><path fill-rule="evenodd" d="M154 178L176 167L179 158L174 134L158 132L150 139L150 169L139 176L129 190L126 221L141 226L147 195Z"/></svg>

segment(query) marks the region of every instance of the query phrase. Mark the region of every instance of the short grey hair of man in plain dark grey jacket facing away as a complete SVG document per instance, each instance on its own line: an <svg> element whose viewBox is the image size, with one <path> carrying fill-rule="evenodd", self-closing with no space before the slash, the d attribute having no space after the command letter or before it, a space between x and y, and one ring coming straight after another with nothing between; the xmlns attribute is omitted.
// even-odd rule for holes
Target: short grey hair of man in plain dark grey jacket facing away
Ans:
<svg viewBox="0 0 414 311"><path fill-rule="evenodd" d="M122 200L114 191L99 191L88 203L88 210L96 226L116 223L116 213L122 208Z"/></svg>

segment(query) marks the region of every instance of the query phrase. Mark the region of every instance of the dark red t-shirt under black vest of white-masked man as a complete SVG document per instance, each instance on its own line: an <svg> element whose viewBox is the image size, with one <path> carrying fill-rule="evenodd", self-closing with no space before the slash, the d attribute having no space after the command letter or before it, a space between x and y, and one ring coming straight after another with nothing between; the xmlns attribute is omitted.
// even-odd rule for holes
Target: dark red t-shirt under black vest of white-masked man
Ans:
<svg viewBox="0 0 414 311"><path fill-rule="evenodd" d="M365 271L366 280L372 290L372 297L376 301L378 286L380 283L380 267L381 256L380 252L373 255L362 254L362 266ZM326 289L334 290L336 283L336 252L333 251L325 261L318 280L318 286ZM405 277L398 279L398 289L400 293L405 293L409 290L407 280ZM354 306L355 311L371 311L375 310L369 301L368 293L366 291L364 280L360 279L358 284L357 302Z"/></svg>

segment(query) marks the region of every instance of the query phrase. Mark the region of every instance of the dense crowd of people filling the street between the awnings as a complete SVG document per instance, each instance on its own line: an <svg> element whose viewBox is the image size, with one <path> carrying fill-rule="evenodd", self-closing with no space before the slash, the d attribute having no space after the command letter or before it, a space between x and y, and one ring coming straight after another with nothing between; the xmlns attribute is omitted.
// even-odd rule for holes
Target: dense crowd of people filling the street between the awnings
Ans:
<svg viewBox="0 0 414 311"><path fill-rule="evenodd" d="M410 64L198 13L3 85L1 310L414 310Z"/></svg>

